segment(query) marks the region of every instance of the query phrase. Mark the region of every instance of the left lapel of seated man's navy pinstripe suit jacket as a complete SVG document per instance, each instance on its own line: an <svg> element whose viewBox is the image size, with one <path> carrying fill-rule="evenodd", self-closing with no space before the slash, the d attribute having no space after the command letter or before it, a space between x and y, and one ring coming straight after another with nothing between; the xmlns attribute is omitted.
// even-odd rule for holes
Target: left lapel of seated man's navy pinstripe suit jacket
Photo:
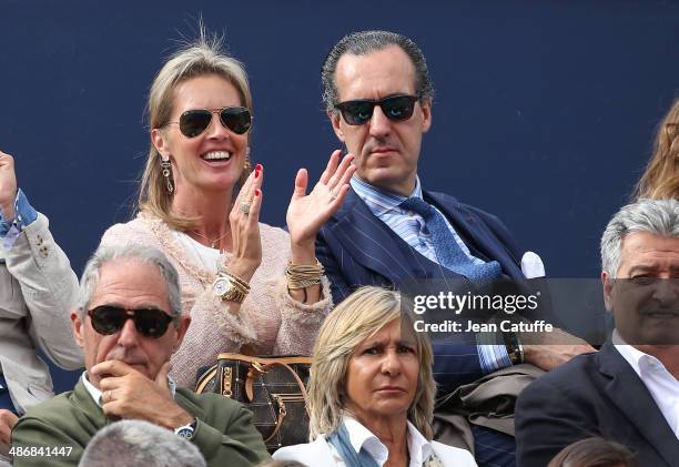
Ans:
<svg viewBox="0 0 679 467"><path fill-rule="evenodd" d="M415 252L377 219L353 190L335 219L337 223L332 232L348 255L393 284L439 275L432 271L433 266L439 268L438 265Z"/></svg>

